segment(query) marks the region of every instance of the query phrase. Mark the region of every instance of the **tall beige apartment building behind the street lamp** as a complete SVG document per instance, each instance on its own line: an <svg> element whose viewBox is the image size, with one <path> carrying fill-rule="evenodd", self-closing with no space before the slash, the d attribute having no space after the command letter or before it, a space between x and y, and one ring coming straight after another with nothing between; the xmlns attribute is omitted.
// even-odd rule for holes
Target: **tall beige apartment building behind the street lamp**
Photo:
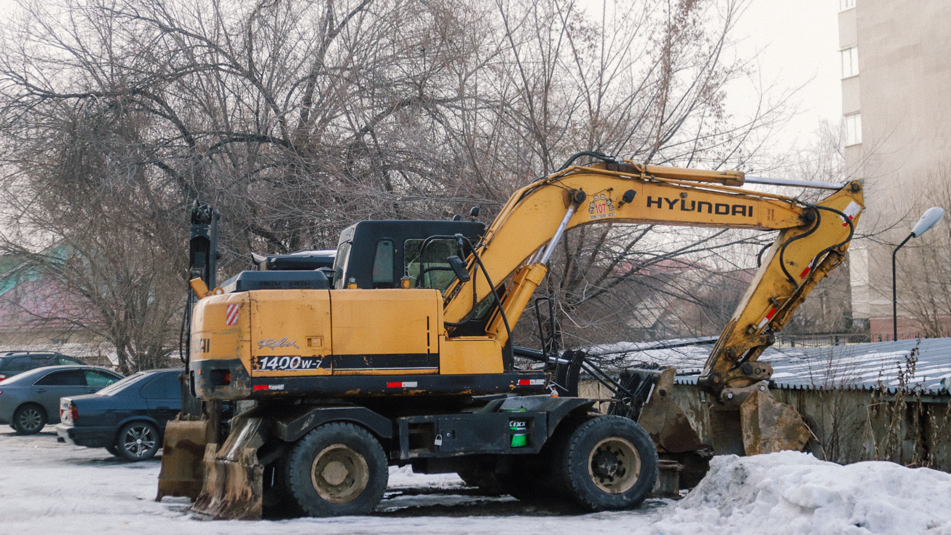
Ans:
<svg viewBox="0 0 951 535"><path fill-rule="evenodd" d="M951 0L831 1L841 9L846 173L865 186L860 230L877 233L850 248L852 316L873 342L891 340L892 250L951 179ZM902 255L915 245L899 251L900 288L914 276ZM923 335L901 292L898 315L899 339Z"/></svg>

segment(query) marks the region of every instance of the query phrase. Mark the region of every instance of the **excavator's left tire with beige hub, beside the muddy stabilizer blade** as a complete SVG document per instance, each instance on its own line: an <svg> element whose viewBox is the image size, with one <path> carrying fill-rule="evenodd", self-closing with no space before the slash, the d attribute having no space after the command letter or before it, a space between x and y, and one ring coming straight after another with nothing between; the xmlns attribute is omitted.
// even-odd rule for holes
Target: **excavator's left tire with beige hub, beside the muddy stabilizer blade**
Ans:
<svg viewBox="0 0 951 535"><path fill-rule="evenodd" d="M332 422L313 429L287 459L287 490L310 516L370 513L389 481L386 454L360 426Z"/></svg>

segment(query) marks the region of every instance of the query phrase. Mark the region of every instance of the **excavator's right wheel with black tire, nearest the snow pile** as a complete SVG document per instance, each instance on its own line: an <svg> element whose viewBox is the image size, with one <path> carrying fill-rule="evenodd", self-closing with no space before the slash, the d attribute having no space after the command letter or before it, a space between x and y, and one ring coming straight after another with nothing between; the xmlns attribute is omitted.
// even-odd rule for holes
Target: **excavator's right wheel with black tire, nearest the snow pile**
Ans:
<svg viewBox="0 0 951 535"><path fill-rule="evenodd" d="M575 504L591 511L629 509L657 481L657 450L632 420L599 416L578 426L557 448L555 470Z"/></svg>

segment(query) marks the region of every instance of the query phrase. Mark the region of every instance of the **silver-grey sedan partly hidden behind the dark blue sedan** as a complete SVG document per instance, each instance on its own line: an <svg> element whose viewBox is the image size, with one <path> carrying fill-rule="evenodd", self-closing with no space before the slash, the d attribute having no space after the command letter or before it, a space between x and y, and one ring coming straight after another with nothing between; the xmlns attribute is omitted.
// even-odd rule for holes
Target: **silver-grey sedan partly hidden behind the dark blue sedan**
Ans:
<svg viewBox="0 0 951 535"><path fill-rule="evenodd" d="M38 367L0 381L0 424L31 435L60 421L60 398L98 392L123 376L105 367Z"/></svg>

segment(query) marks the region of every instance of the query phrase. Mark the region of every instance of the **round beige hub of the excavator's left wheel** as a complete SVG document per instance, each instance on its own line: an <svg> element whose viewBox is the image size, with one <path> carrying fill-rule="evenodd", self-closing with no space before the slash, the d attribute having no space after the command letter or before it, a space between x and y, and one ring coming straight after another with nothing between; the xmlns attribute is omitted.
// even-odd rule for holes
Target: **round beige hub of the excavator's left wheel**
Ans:
<svg viewBox="0 0 951 535"><path fill-rule="evenodd" d="M358 451L344 444L320 450L311 465L314 489L331 504L356 500L370 481L370 467Z"/></svg>

